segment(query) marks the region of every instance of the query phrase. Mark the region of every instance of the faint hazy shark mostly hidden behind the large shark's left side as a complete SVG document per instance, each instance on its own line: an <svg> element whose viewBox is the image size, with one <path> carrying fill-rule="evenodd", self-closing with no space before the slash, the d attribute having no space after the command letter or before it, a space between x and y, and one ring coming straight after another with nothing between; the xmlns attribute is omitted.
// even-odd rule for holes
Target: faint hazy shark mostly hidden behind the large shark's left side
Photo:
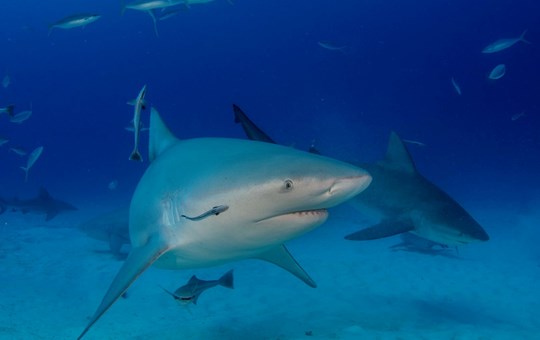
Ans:
<svg viewBox="0 0 540 340"><path fill-rule="evenodd" d="M129 207L110 211L81 223L78 228L89 237L105 241L111 253L119 258L125 257L121 252L129 241Z"/></svg>

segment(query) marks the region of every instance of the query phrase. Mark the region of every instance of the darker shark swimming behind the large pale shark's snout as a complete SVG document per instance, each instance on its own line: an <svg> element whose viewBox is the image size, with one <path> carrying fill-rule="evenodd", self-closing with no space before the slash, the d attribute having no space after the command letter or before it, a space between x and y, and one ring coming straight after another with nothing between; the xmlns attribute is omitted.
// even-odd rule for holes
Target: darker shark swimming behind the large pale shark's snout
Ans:
<svg viewBox="0 0 540 340"><path fill-rule="evenodd" d="M249 138L267 136L249 119L240 123ZM251 131L253 127L256 129ZM271 141L270 137L267 139ZM385 160L360 166L373 177L373 183L349 202L361 212L380 218L381 222L346 239L373 240L406 232L443 245L489 239L482 226L459 203L416 170L396 133L390 135Z"/></svg>

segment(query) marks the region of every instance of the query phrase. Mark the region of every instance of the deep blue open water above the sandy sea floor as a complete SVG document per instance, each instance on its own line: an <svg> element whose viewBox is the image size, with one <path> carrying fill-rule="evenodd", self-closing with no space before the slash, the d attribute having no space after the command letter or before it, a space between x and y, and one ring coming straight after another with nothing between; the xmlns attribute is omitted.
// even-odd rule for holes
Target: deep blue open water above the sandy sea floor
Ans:
<svg viewBox="0 0 540 340"><path fill-rule="evenodd" d="M48 24L80 12L103 17L48 35ZM117 1L4 1L0 13L0 78L11 78L0 107L33 111L21 125L0 116L10 139L0 147L0 196L44 185L79 204L127 202L148 162L128 161L126 102L147 84L149 103L180 138L244 138L232 103L278 142L315 141L343 160L381 159L395 130L425 144L409 145L418 168L467 208L530 212L538 201L537 1L216 0L158 22L159 37L148 15L121 15ZM525 29L532 44L480 52ZM346 48L326 50L322 40ZM488 80L500 63L506 75ZM146 132L141 139L147 160ZM25 183L26 158L8 149L40 145Z"/></svg>

